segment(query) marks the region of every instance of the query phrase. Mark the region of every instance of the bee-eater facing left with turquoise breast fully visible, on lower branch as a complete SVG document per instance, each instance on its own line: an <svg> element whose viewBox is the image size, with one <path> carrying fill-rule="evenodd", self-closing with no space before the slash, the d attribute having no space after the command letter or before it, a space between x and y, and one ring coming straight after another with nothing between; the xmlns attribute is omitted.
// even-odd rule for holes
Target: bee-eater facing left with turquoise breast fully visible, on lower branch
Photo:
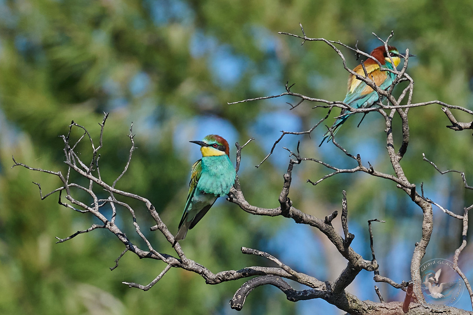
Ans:
<svg viewBox="0 0 473 315"><path fill-rule="evenodd" d="M202 158L192 166L189 193L175 242L183 240L187 230L209 211L217 198L225 196L235 183L235 168L230 162L227 140L210 134L203 141L190 141L201 146ZM173 247L174 247L173 245Z"/></svg>

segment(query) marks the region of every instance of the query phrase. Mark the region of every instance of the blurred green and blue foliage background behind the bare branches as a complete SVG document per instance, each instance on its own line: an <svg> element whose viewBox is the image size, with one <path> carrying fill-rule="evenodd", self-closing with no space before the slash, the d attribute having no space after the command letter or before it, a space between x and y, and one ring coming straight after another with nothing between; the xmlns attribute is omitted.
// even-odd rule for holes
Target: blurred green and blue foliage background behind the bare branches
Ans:
<svg viewBox="0 0 473 315"><path fill-rule="evenodd" d="M350 45L358 41L369 53L380 45L371 32L386 38L394 30L390 44L417 55L408 69L415 80L413 101L439 99L472 109L472 16L469 0L1 0L0 313L234 314L228 300L245 281L209 286L196 274L173 269L147 292L129 289L121 281L147 284L164 264L127 253L110 272L123 245L101 230L54 244L54 236L69 236L93 220L60 206L57 196L40 201L31 182L41 183L45 192L59 181L10 169L12 155L33 167L64 170L58 136L74 120L97 137L97 122L104 111L110 112L100 162L102 178L111 183L128 157L126 134L133 122L138 149L118 186L147 197L175 231L190 167L200 156L188 141L220 134L231 144L235 161L233 143L255 137L243 151L242 189L253 204L276 207L289 161L283 146L295 149L300 139L303 156L353 167L331 143L317 147L325 131L320 128L312 138L285 137L274 155L254 168L280 130L307 130L326 112L312 110L315 104L308 102L289 111L285 102L297 102L290 98L227 102L280 94L286 81L307 96L342 100L346 92L348 73L330 47L320 42L301 46L300 40L278 31L300 34L300 22L309 37ZM358 64L352 53L342 52L350 67ZM461 213L473 202L471 191L464 191L457 174L436 173L421 153L441 169L464 170L471 184L470 132L445 128L449 122L438 105L409 113L412 140L403 159L406 175L417 185L424 182L427 197ZM359 118L344 124L339 142L391 173L384 120L369 114L357 129ZM332 118L326 122L331 123ZM84 147L83 154L88 153ZM306 184L307 178L316 180L327 172L315 163L296 166L290 193L294 205L323 217L341 208L345 189L354 249L370 259L366 220L386 220L373 227L380 272L397 282L410 280L420 209L393 183L366 174L335 176L316 187ZM267 251L321 280L334 280L344 267L344 259L315 229L288 219L252 216L221 199L182 242L187 257L213 272L268 263L241 254L240 246ZM142 245L129 214L121 210L119 216L117 224ZM137 209L137 216L143 230L153 225L144 207ZM434 224L426 259L451 258L461 241L461 221L434 208ZM172 253L162 235L147 236L155 248ZM460 267L471 259L469 245ZM472 279L471 269L464 272ZM348 289L361 299L376 300L372 276L362 271ZM403 299L400 291L378 286L385 300ZM468 298L462 303L456 306L468 309ZM289 302L265 286L249 296L242 313L313 314L315 309L336 311L322 300Z"/></svg>

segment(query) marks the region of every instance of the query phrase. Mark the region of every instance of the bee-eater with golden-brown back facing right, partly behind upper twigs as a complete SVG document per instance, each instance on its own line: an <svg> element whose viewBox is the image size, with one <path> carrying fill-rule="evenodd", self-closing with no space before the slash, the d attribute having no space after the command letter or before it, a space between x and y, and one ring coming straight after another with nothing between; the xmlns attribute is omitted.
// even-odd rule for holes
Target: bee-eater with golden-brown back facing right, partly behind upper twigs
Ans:
<svg viewBox="0 0 473 315"><path fill-rule="evenodd" d="M391 59L386 53L385 46L379 46L375 48L370 53L370 55L375 57L383 67L394 70L401 62L401 58L404 58L404 56L400 54L397 51L397 48L394 46L387 46L387 49L389 51L389 54L391 55L391 59L393 60L394 64L391 63ZM410 54L409 56L414 55ZM381 71L377 62L371 58L368 58L364 63L366 72L368 73L368 78L372 79L378 87L385 90L389 86L391 86L391 83L393 83L394 78L396 77L394 73L389 71ZM353 71L363 77L365 76L365 71L363 70L361 64L356 66ZM356 79L356 77L350 73L350 76L348 78L348 91L347 95L345 96L345 99L343 100L343 103L348 104L353 108L368 108L373 106L378 101L383 101L383 99L379 100L377 92L361 80ZM345 122L352 113L347 109L342 109L342 112L340 114L343 116L337 118L337 120L333 122L333 134L338 131L340 126L342 126L343 122ZM329 131L325 132L324 140L322 140L322 143L324 143L325 139L327 138L327 142L332 138ZM322 145L322 143L320 143L320 145Z"/></svg>

